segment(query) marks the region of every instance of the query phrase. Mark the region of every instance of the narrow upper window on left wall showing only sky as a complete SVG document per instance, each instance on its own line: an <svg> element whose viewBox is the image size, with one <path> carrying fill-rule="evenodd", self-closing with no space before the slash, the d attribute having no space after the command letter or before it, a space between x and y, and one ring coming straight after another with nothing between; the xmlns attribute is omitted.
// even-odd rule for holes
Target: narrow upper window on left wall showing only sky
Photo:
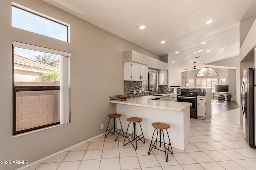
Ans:
<svg viewBox="0 0 256 170"><path fill-rule="evenodd" d="M16 6L19 6L16 4ZM32 10L12 6L12 26L62 41L68 41L68 24ZM50 19L49 19L50 18Z"/></svg>

